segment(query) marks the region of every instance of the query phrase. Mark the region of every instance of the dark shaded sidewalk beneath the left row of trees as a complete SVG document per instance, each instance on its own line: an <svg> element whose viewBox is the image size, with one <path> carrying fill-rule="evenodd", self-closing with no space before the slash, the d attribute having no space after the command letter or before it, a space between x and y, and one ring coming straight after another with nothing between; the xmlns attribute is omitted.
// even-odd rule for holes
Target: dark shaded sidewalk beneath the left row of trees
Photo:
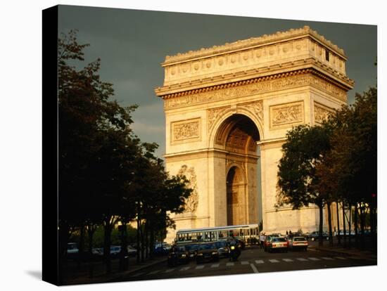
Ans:
<svg viewBox="0 0 387 291"><path fill-rule="evenodd" d="M141 269L148 268L149 266L153 266L160 263L167 262L167 257L156 257L155 259L146 259L144 263L136 264L132 263L129 264L127 271L113 271L110 274L106 274L105 271L105 264L102 264L101 262L98 265L94 266L94 277L89 278L89 269L88 265L84 264L82 267L82 271L79 271L77 273L73 273L73 276L66 276L64 281L64 285L75 285L75 284L92 284L92 283L108 283L120 280L123 276L129 276L131 273L140 271ZM116 262L112 261L112 270L115 269L113 265L115 265ZM71 277L71 278L69 278Z"/></svg>

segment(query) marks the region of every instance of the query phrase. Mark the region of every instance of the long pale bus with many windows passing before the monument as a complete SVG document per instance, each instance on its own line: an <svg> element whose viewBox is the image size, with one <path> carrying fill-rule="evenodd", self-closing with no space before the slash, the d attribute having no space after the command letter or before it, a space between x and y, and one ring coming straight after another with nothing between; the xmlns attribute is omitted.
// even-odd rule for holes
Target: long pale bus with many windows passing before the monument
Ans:
<svg viewBox="0 0 387 291"><path fill-rule="evenodd" d="M239 240L243 240L243 242L247 245L258 244L258 224L180 229L176 233L175 243L208 242L227 238L237 238Z"/></svg>

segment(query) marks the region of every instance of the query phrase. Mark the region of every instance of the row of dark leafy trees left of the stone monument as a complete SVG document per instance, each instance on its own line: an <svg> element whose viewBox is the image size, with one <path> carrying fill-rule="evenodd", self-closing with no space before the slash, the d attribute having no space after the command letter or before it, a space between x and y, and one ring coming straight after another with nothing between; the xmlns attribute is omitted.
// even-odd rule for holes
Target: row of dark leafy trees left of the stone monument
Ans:
<svg viewBox="0 0 387 291"><path fill-rule="evenodd" d="M101 81L100 60L75 67L87 46L77 42L76 31L58 39L60 260L63 266L74 231L80 233L80 254L87 236L91 255L93 235L103 226L110 273L113 227L122 225L122 252L127 252L126 226L137 221L137 261L144 260L144 252L152 255L156 233L173 225L168 213L184 211L191 189L184 176L165 172L154 155L156 143L141 143L134 134L137 106L124 108L111 99L113 84Z"/></svg>

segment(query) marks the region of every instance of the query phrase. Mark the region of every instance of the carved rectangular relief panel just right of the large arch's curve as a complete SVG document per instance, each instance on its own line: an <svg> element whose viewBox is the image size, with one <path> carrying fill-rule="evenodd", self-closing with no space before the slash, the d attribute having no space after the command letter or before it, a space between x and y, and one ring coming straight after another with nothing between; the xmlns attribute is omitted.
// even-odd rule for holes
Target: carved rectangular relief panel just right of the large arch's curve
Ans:
<svg viewBox="0 0 387 291"><path fill-rule="evenodd" d="M270 106L270 128L278 129L304 122L303 101Z"/></svg>

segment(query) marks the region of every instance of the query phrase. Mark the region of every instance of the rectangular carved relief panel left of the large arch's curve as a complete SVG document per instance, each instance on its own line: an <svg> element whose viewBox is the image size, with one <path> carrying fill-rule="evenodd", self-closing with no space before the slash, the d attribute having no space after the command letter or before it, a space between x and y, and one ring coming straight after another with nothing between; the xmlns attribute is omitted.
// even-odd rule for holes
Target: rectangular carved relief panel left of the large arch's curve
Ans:
<svg viewBox="0 0 387 291"><path fill-rule="evenodd" d="M172 142L198 141L201 138L201 119L172 122Z"/></svg>

